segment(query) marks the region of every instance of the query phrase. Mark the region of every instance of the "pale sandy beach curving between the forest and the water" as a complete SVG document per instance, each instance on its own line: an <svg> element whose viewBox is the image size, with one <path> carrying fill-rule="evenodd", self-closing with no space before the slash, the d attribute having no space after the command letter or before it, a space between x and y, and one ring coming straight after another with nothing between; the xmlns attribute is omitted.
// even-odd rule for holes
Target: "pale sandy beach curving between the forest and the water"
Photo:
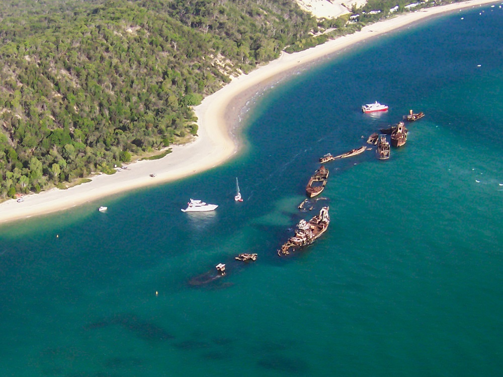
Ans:
<svg viewBox="0 0 503 377"><path fill-rule="evenodd" d="M24 202L8 200L0 204L0 223L60 211L97 201L105 196L140 187L188 177L222 164L237 152L236 141L229 134L246 101L292 69L344 50L372 37L402 28L431 16L465 8L496 4L494 0L470 0L442 7L428 8L366 26L360 32L330 40L323 45L294 54L283 53L277 60L246 75L241 75L217 93L205 98L195 108L199 119L198 137L186 145L173 146L173 153L160 160L139 161L114 175L91 177L92 182L69 188L53 189L25 196ZM155 173L156 177L149 175ZM100 204L96 203L96 209Z"/></svg>

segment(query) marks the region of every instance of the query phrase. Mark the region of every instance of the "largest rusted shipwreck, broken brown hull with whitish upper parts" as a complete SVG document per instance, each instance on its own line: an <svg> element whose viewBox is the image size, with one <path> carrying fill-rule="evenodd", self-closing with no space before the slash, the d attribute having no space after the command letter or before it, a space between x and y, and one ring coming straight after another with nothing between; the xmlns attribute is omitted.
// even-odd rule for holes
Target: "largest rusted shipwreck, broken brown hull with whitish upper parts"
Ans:
<svg viewBox="0 0 503 377"><path fill-rule="evenodd" d="M330 216L328 215L328 207L323 207L319 214L311 218L309 221L304 219L300 220L295 230L295 236L290 237L285 242L278 255L285 256L298 250L304 246L311 245L317 238L319 238L328 228L330 223Z"/></svg>

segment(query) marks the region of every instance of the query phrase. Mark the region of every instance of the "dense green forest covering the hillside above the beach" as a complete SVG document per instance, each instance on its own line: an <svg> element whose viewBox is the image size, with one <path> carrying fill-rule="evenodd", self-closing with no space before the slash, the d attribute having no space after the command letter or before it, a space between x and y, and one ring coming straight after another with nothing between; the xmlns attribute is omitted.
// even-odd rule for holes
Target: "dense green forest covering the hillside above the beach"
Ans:
<svg viewBox="0 0 503 377"><path fill-rule="evenodd" d="M365 7L391 3L409 2ZM187 141L204 96L365 22L348 20L316 20L294 0L3 0L0 198Z"/></svg>

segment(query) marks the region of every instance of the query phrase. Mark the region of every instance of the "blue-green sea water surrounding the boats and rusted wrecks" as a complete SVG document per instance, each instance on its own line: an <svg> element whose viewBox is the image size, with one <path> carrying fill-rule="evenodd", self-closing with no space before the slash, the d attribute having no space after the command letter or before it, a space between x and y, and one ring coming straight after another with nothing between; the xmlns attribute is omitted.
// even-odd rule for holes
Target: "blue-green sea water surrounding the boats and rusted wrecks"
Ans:
<svg viewBox="0 0 503 377"><path fill-rule="evenodd" d="M3 225L0 375L500 376L502 100L503 11L452 13L271 85L224 166ZM388 161L327 164L326 200L297 209L319 157L409 109L426 117ZM321 205L328 231L278 257Z"/></svg>

